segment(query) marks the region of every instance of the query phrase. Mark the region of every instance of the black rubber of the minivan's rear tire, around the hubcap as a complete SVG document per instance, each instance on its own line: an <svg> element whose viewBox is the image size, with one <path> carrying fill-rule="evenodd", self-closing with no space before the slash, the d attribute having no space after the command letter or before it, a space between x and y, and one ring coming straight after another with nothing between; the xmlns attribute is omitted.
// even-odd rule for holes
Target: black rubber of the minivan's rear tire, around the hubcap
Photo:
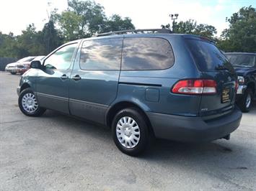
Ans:
<svg viewBox="0 0 256 191"><path fill-rule="evenodd" d="M118 124L118 121L120 120L120 118L122 118L123 116L129 116L133 118L138 124L141 132L140 140L138 141L138 144L131 149L125 148L125 146L120 144L120 142L118 141L118 137L116 135L116 125ZM115 145L118 146L118 149L120 149L120 151L125 154L131 155L131 156L137 156L138 154L141 154L141 152L144 152L149 142L149 131L146 126L145 118L143 117L141 112L136 110L136 108L125 108L119 111L115 115L115 118L112 121L112 138L115 142Z"/></svg>

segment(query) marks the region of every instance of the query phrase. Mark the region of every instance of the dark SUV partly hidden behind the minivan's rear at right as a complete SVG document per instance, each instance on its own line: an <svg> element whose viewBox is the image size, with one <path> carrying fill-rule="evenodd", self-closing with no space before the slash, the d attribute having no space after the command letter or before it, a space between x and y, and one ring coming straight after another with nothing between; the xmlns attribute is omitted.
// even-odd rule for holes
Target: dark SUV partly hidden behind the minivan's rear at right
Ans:
<svg viewBox="0 0 256 191"><path fill-rule="evenodd" d="M243 112L250 111L256 97L256 53L225 53L238 75L237 105Z"/></svg>

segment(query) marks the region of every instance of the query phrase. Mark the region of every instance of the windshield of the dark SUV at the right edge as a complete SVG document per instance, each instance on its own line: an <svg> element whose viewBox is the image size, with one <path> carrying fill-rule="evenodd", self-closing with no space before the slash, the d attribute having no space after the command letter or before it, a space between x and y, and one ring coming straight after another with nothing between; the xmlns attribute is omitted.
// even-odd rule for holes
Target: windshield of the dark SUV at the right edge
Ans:
<svg viewBox="0 0 256 191"><path fill-rule="evenodd" d="M254 67L256 55L245 54L226 54L226 57L231 62L231 65L242 67Z"/></svg>

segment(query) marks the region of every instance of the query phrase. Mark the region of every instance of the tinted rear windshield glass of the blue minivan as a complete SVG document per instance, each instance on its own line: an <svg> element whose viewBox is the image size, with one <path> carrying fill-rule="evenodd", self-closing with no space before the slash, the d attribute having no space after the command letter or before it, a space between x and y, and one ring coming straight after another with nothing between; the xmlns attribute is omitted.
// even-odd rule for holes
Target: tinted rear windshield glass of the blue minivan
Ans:
<svg viewBox="0 0 256 191"><path fill-rule="evenodd" d="M215 45L198 39L186 39L186 42L199 70L203 72L229 70L234 73L229 60Z"/></svg>

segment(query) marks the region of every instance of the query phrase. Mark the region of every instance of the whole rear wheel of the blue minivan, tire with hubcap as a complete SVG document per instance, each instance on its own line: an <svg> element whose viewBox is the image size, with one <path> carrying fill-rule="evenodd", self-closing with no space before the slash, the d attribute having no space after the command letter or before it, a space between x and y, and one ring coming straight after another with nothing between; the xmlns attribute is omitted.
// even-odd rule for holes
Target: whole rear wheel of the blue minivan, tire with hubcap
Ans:
<svg viewBox="0 0 256 191"><path fill-rule="evenodd" d="M112 139L121 152L138 156L146 150L149 138L145 118L136 108L124 108L115 115L112 121Z"/></svg>

